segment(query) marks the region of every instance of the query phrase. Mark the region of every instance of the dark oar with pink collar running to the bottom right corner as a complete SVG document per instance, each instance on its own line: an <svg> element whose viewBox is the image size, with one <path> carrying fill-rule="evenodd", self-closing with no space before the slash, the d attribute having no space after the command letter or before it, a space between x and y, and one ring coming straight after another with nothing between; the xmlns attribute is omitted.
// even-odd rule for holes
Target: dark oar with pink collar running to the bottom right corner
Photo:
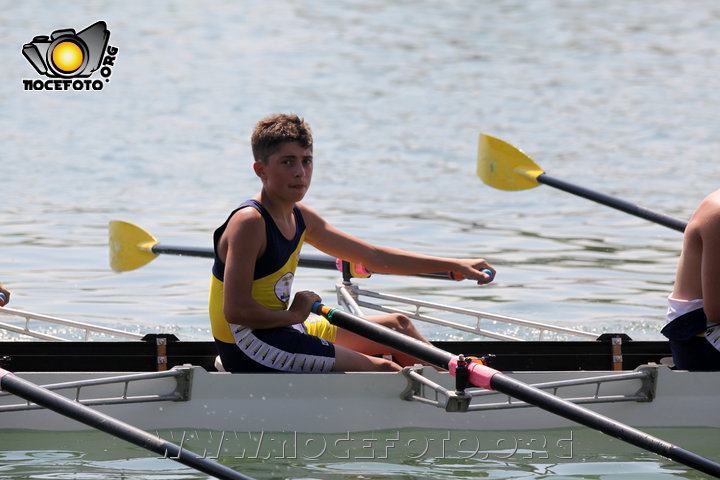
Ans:
<svg viewBox="0 0 720 480"><path fill-rule="evenodd" d="M389 328L372 323L355 315L315 303L314 313L320 314L332 324L387 345L415 358L448 369L456 374L458 357L435 346L420 342ZM497 390L513 398L535 405L551 413L581 425L599 430L632 445L662 455L676 462L720 478L720 464L688 450L648 435L633 427L580 407L572 402L551 395L543 390L519 382L485 365L471 362L467 365L470 383L475 386Z"/></svg>

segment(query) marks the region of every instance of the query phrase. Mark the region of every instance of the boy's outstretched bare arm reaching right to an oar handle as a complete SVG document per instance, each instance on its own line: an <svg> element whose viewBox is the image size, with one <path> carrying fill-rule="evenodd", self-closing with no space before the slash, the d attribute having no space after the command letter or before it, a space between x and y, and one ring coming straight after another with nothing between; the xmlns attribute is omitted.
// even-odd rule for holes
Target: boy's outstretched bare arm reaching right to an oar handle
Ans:
<svg viewBox="0 0 720 480"><path fill-rule="evenodd" d="M362 264L377 273L409 275L415 273L449 272L451 278L486 279L480 270L487 268L495 274L490 264L483 259L455 259L413 253L398 248L367 243L348 235L327 223L314 210L304 205L301 208L307 226L306 241L328 255ZM492 279L483 280L488 283Z"/></svg>

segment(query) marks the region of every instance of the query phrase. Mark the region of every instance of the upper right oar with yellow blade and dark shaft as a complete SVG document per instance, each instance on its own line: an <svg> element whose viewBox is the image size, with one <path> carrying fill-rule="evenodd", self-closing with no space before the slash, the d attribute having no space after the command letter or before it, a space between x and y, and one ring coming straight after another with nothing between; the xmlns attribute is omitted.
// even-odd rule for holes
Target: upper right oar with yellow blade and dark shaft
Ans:
<svg viewBox="0 0 720 480"><path fill-rule="evenodd" d="M684 220L551 177L518 148L482 133L478 142L477 175L485 184L500 190L527 190L543 183L679 232L684 232L687 226Z"/></svg>

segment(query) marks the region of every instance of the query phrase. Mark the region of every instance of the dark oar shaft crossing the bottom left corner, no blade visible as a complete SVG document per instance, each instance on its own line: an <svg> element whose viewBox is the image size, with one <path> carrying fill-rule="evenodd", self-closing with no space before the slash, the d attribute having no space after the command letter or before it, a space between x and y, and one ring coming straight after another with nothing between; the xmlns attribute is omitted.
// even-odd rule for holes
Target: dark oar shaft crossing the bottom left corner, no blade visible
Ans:
<svg viewBox="0 0 720 480"><path fill-rule="evenodd" d="M182 446L167 442L139 428L121 422L116 418L100 413L80 403L74 402L55 392L46 390L32 382L19 378L0 368L0 388L18 397L34 402L61 415L77 420L105 433L126 440L139 447L155 452L163 457L176 460L208 475L228 480L252 480L210 459L202 458Z"/></svg>

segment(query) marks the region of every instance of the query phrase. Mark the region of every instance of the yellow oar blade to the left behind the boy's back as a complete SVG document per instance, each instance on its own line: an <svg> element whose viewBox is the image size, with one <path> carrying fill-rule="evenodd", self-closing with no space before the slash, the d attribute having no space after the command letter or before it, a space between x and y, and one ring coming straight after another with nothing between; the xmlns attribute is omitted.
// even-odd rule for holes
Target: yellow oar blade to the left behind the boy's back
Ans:
<svg viewBox="0 0 720 480"><path fill-rule="evenodd" d="M157 254L152 246L159 242L132 223L113 220L109 225L110 268L116 272L135 270L151 262Z"/></svg>

